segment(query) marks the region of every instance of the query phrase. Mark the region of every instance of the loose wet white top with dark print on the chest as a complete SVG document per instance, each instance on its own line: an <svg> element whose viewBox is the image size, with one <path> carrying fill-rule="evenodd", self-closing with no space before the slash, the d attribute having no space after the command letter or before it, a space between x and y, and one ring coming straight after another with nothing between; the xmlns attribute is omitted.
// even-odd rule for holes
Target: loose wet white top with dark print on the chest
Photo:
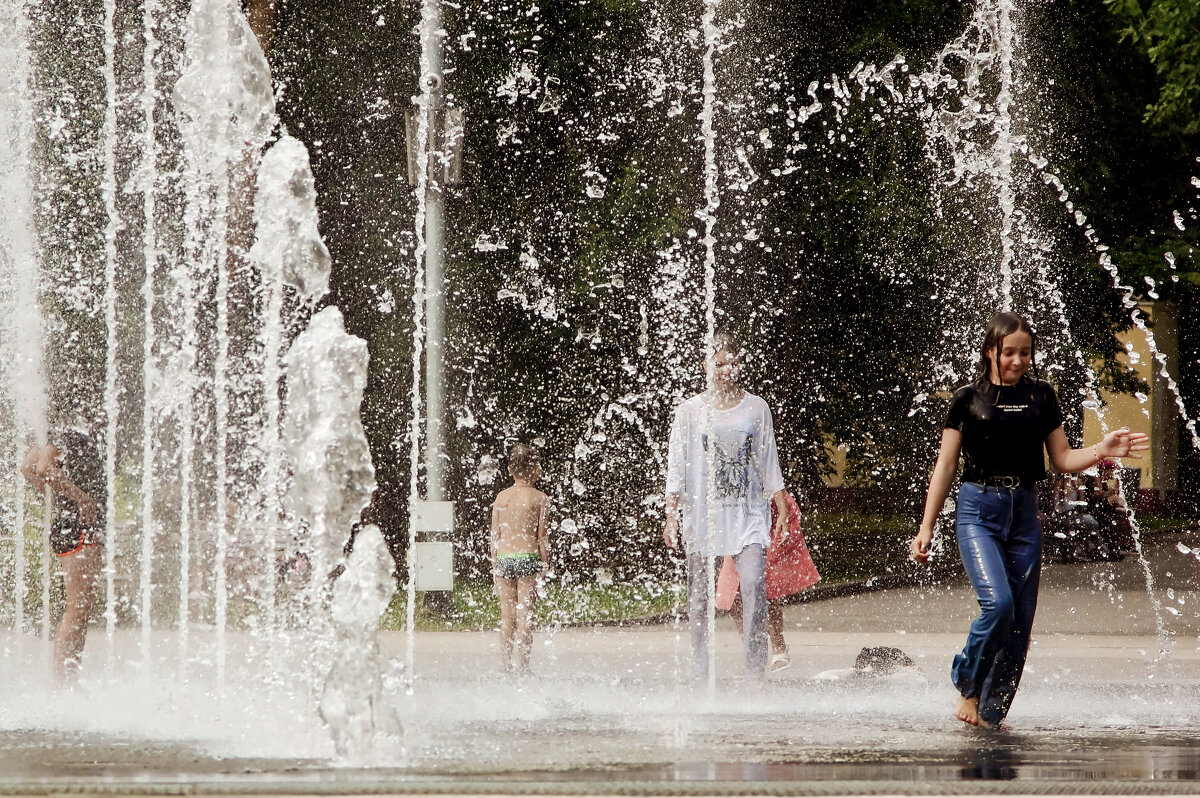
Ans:
<svg viewBox="0 0 1200 798"><path fill-rule="evenodd" d="M710 420L709 420L710 416ZM714 449L713 551L708 551L708 451ZM775 424L767 403L746 394L728 410L713 409L704 395L676 409L667 451L667 494L679 497L689 552L737 554L770 545L770 497L784 488L775 450Z"/></svg>

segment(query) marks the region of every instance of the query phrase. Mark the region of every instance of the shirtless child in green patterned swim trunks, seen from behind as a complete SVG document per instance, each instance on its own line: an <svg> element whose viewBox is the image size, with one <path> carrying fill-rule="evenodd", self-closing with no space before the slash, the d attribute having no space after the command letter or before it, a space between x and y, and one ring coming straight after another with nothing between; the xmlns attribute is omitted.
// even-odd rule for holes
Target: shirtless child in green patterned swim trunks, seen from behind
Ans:
<svg viewBox="0 0 1200 798"><path fill-rule="evenodd" d="M538 450L517 444L509 451L512 487L492 504L492 574L500 596L500 658L504 672L529 670L533 650L533 604L538 577L550 562L546 516L550 499L534 487L541 476Z"/></svg>

